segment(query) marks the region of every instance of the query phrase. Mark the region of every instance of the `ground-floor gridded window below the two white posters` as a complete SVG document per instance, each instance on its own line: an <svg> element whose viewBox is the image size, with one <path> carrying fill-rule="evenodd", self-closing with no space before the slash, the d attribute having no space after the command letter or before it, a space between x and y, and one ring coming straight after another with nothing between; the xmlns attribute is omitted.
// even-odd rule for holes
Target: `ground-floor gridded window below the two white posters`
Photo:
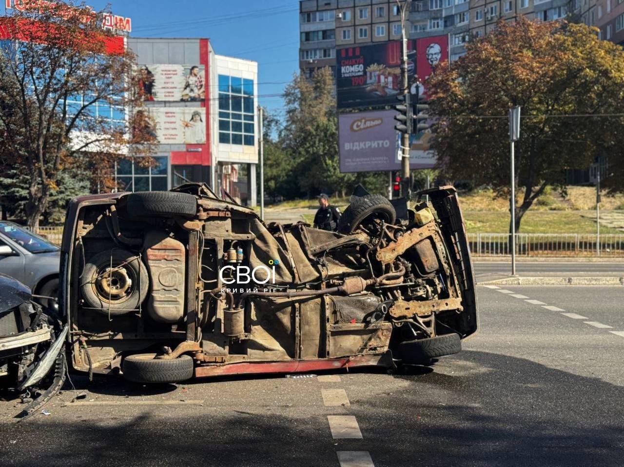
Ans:
<svg viewBox="0 0 624 467"><path fill-rule="evenodd" d="M135 156L119 160L115 164L115 175L120 190L124 191L167 191L168 157L152 156L154 166L142 162L143 157Z"/></svg>

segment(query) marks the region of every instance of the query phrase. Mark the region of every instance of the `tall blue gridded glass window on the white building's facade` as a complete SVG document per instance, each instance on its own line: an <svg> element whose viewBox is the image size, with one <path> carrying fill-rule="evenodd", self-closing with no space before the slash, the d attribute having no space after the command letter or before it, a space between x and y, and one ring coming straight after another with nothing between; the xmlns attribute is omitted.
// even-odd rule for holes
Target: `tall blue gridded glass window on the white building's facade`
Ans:
<svg viewBox="0 0 624 467"><path fill-rule="evenodd" d="M255 145L253 80L219 75L219 142Z"/></svg>

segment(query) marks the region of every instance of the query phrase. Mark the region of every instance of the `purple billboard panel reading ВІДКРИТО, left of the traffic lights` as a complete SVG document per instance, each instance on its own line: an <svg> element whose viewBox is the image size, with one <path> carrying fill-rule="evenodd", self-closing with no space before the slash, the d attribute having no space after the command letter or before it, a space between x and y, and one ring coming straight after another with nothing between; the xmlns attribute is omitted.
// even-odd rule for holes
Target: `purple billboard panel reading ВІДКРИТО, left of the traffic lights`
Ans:
<svg viewBox="0 0 624 467"><path fill-rule="evenodd" d="M339 116L341 172L391 170L397 154L395 115L375 111Z"/></svg>

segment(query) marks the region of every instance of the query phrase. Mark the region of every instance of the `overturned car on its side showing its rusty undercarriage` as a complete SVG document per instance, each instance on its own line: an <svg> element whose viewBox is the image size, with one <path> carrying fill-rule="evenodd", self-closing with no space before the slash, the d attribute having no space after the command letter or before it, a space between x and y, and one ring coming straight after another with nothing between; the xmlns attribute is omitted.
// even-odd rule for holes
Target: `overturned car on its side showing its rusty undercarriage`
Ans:
<svg viewBox="0 0 624 467"><path fill-rule="evenodd" d="M72 366L155 383L456 353L477 330L462 215L452 187L419 196L429 205L396 220L365 195L341 233L266 225L200 184L73 200L60 302Z"/></svg>

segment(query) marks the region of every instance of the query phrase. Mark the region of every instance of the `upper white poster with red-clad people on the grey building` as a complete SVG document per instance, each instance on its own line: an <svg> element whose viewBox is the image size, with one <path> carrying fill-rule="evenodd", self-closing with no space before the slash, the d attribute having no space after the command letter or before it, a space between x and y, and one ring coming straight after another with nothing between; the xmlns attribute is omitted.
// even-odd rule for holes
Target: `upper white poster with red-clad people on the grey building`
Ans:
<svg viewBox="0 0 624 467"><path fill-rule="evenodd" d="M203 102L206 99L203 65L140 65L136 87L144 101Z"/></svg>

